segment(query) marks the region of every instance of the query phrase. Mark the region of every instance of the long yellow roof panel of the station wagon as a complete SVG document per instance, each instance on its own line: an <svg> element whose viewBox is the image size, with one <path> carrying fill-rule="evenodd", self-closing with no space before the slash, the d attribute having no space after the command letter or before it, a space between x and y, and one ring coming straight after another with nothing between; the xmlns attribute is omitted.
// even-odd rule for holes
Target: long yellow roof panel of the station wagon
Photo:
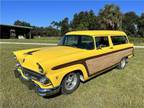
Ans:
<svg viewBox="0 0 144 108"><path fill-rule="evenodd" d="M119 36L126 35L123 31L116 30L82 30L82 31L71 31L66 33L66 35L91 35L91 36Z"/></svg>

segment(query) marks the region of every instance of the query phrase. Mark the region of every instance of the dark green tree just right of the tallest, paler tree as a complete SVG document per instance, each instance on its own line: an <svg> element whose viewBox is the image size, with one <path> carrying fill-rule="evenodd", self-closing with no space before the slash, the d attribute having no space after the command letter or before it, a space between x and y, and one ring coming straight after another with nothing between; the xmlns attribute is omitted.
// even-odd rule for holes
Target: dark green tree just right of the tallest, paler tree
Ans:
<svg viewBox="0 0 144 108"><path fill-rule="evenodd" d="M123 30L130 36L137 36L139 17L135 12L127 12L123 15Z"/></svg>

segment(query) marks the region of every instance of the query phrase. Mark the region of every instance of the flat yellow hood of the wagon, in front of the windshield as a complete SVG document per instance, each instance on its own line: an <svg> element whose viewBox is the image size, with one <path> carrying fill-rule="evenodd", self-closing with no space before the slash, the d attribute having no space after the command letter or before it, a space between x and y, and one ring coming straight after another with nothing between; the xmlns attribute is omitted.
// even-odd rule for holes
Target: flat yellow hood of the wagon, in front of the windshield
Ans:
<svg viewBox="0 0 144 108"><path fill-rule="evenodd" d="M33 51L29 51L25 54L34 57L38 62L43 62L45 60L56 60L57 58L69 56L71 54L76 54L82 52L82 49L68 47L68 46L56 46L49 48L41 48Z"/></svg>

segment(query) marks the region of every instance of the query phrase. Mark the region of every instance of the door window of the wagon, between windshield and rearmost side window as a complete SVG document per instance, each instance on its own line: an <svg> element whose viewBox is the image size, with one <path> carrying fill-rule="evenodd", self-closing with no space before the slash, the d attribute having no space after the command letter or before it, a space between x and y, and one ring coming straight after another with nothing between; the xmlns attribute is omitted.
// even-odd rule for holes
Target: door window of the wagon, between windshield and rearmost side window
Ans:
<svg viewBox="0 0 144 108"><path fill-rule="evenodd" d="M109 41L108 37L96 37L96 47L97 48L102 48L102 47L108 47L109 46Z"/></svg>

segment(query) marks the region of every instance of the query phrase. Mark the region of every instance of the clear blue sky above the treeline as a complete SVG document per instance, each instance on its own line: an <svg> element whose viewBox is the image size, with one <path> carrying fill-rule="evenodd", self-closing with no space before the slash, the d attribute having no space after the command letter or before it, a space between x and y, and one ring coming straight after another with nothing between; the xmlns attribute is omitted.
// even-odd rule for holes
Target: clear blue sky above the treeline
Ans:
<svg viewBox="0 0 144 108"><path fill-rule="evenodd" d="M0 0L0 24L22 20L35 26L48 26L64 17L71 20L80 11L93 10L97 15L105 4L118 5L122 13L144 12L144 0Z"/></svg>

